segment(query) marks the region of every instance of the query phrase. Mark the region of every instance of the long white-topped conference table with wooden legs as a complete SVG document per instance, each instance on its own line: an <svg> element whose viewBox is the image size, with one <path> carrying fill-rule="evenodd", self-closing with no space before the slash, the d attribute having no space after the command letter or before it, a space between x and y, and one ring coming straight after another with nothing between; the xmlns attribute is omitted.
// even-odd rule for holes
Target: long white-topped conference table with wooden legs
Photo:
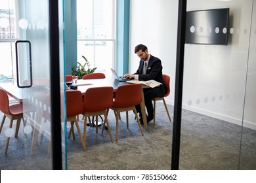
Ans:
<svg viewBox="0 0 256 183"><path fill-rule="evenodd" d="M71 81L72 82L72 81ZM68 83L68 82L67 82ZM81 91L82 94L86 92L88 88L93 88L93 87L100 87L100 86L112 86L114 88L114 92L117 90L118 86L124 85L124 84L129 84L127 82L119 82L118 80L109 77L109 78L97 78L97 79L87 79L87 80L77 80L76 83L72 83L72 86L77 86L77 90ZM41 87L38 89L38 87ZM33 131L33 138L32 138L32 148L31 148L31 154L33 154L33 147L37 143L37 136L38 136L38 131L41 126L41 121L43 118L43 105L45 104L46 101L46 96L47 96L47 91L44 90L45 86L32 86L32 89L28 88L18 88L18 86L13 85L13 84L0 84L0 88L5 90L11 97L16 99L19 103L24 103L25 101L32 101L33 99L28 99L28 95L26 95L26 90L32 90L33 91L33 96L36 101L33 101L35 103L36 112L35 112L35 120L33 120L33 127L37 130ZM145 103L144 103L144 88L148 88L149 86L146 86L142 84L142 102L140 103L140 109L142 112L142 119L144 122L144 128L147 130L148 129L148 123L146 120L146 108L145 108ZM69 89L70 90L70 89ZM31 92L31 91L30 91Z"/></svg>

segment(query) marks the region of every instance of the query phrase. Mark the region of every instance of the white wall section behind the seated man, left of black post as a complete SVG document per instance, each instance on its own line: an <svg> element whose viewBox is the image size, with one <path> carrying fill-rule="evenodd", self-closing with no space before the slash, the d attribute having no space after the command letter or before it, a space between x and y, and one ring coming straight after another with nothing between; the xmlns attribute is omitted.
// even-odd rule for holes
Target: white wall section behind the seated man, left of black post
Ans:
<svg viewBox="0 0 256 183"><path fill-rule="evenodd" d="M161 59L163 73L171 76L173 104L177 47L178 1L131 0L129 71L135 73L139 58L134 52L137 44L145 44L148 52Z"/></svg>

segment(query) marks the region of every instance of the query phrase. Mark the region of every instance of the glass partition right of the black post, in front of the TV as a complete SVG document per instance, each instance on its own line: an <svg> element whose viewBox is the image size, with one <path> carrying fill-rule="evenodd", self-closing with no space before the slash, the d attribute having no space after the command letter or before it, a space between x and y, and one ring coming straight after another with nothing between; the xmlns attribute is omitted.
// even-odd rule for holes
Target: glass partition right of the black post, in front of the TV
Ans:
<svg viewBox="0 0 256 183"><path fill-rule="evenodd" d="M226 31L216 31L228 44L185 44L179 167L256 169L255 5L187 1L187 11L215 8L230 8ZM195 31L204 36L209 27Z"/></svg>

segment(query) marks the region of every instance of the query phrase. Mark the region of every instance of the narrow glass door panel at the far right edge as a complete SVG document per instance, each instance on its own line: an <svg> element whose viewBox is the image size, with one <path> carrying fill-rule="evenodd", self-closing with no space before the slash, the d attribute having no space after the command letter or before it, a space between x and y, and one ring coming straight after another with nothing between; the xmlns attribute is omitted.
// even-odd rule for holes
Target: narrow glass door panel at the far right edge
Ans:
<svg viewBox="0 0 256 183"><path fill-rule="evenodd" d="M256 169L256 4L253 3L239 169Z"/></svg>

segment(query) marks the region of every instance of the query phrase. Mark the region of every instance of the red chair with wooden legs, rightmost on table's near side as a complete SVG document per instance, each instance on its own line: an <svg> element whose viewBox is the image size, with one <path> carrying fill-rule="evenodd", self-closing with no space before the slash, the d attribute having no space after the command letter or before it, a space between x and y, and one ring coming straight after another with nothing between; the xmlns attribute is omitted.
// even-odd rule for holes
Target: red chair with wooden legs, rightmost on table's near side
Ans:
<svg viewBox="0 0 256 183"><path fill-rule="evenodd" d="M114 99L114 107L111 109L114 110L116 115L116 141L118 139L118 119L120 112L126 112L126 124L129 127L128 120L128 111L133 110L137 118L137 122L140 128L141 135L144 136L142 127L140 125L139 116L135 105L138 105L142 101L142 88L141 84L125 84L119 86L116 90L116 97Z"/></svg>

